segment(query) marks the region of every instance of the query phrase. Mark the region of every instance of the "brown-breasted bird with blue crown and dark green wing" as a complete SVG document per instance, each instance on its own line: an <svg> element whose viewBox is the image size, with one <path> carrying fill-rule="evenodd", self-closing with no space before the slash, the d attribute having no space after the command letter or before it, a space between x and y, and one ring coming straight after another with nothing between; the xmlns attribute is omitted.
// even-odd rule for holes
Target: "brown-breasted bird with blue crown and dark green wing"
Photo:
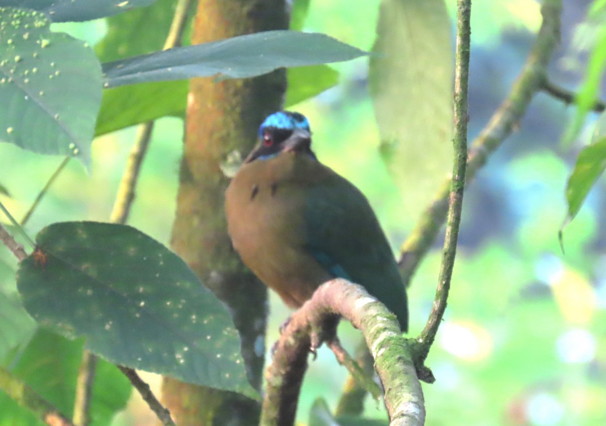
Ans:
<svg viewBox="0 0 606 426"><path fill-rule="evenodd" d="M362 285L408 329L398 264L367 198L322 164L298 112L261 123L258 144L225 192L228 234L242 262L287 306L299 308L319 285Z"/></svg>

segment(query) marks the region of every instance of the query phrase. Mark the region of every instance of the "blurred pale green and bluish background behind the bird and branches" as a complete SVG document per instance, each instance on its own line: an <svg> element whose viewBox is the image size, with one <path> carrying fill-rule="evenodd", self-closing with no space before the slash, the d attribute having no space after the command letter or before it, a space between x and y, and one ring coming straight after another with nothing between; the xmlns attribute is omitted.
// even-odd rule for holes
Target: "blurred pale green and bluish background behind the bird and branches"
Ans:
<svg viewBox="0 0 606 426"><path fill-rule="evenodd" d="M453 3L448 1L451 18ZM370 50L379 4L311 0L304 30ZM576 87L584 72L588 4L564 1L562 42L550 67L551 78L562 86ZM539 2L476 1L471 23L470 141L524 63L541 23ZM105 32L103 21L53 24L53 29L92 43ZM368 95L368 59L331 67L341 73L338 86L292 109L310 119L320 160L370 199L397 251L425 208L415 193L425 177L419 172L398 189L382 162ZM429 426L606 424L603 181L565 230L565 254L558 244L567 177L593 128L589 123L582 138L562 146L562 130L572 112L548 95L536 96L518 132L468 186L448 309L427 360L437 379L423 387ZM175 211L182 129L176 118L157 122L129 221L166 245ZM55 221L107 221L134 133L127 129L98 138L90 175L71 161L28 223L28 233L35 235ZM427 157L424 160L431 161L431 152ZM0 183L11 195L0 195L2 203L21 217L60 161L2 144ZM430 200L433 192L425 197ZM430 311L440 253L441 242L436 242L411 284L411 335L421 331ZM3 288L14 289L15 269L15 261L0 248ZM271 294L268 345L287 316L288 309ZM340 333L345 345L355 348L358 332L344 324ZM307 422L318 396L334 407L346 376L333 354L322 348L305 378L299 421ZM133 402L115 424L151 424L153 418L145 410ZM385 418L384 411L381 403L367 401L369 417Z"/></svg>

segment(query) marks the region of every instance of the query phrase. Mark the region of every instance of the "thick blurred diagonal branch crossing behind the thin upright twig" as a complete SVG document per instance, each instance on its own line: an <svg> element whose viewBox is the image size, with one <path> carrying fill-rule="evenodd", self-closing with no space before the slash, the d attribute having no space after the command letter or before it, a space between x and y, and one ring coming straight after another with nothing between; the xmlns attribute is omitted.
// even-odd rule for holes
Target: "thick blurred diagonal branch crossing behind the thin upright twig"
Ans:
<svg viewBox="0 0 606 426"><path fill-rule="evenodd" d="M542 89L547 75L547 64L559 42L562 0L545 0L541 12L541 29L528 53L524 69L511 87L507 98L471 146L467 160L467 181L473 178L476 171L486 163L488 156L516 129L533 96ZM431 248L446 219L450 187L451 181L448 180L402 245L399 266L407 286L410 285L419 263Z"/></svg>

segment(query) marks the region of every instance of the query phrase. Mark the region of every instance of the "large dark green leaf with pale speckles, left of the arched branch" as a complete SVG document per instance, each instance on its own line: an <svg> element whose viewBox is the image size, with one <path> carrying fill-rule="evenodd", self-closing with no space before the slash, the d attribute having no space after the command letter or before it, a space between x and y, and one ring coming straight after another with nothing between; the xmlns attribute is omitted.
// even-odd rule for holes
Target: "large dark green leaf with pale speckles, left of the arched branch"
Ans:
<svg viewBox="0 0 606 426"><path fill-rule="evenodd" d="M39 323L85 336L111 362L256 396L227 309L156 240L130 226L65 222L36 243L17 285Z"/></svg>

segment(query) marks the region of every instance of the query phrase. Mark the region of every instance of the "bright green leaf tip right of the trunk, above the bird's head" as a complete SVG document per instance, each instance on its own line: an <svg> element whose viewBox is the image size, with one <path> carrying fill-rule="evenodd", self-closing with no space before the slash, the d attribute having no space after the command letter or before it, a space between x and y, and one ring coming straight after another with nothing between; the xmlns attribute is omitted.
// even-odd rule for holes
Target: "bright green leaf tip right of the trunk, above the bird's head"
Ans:
<svg viewBox="0 0 606 426"><path fill-rule="evenodd" d="M327 65L289 68L285 107L319 95L339 83L339 73Z"/></svg>

